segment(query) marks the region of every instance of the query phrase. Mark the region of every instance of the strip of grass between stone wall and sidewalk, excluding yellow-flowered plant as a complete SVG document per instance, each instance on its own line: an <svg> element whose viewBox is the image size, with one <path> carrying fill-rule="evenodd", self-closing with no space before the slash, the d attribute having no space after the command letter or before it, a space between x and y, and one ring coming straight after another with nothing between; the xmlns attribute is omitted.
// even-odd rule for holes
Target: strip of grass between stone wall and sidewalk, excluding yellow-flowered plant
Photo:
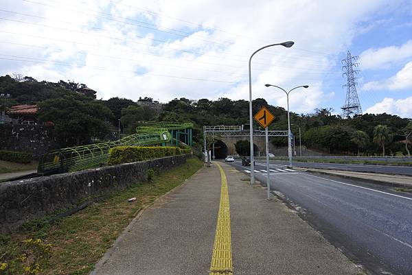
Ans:
<svg viewBox="0 0 412 275"><path fill-rule="evenodd" d="M4 249L25 239L38 238L52 246L52 254L39 274L89 274L142 208L182 184L201 167L203 162L192 158L185 165L154 175L151 182L137 183L54 224L41 220L25 224L22 230L8 236L7 246L1 246L0 264ZM133 197L137 198L135 202L127 202Z"/></svg>

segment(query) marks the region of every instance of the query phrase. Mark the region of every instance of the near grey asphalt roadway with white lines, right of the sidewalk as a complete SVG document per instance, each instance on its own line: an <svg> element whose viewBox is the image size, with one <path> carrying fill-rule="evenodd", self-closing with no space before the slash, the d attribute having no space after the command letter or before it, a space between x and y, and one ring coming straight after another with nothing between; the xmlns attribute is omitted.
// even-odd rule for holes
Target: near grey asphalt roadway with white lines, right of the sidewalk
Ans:
<svg viewBox="0 0 412 275"><path fill-rule="evenodd" d="M240 162L231 165L250 174ZM260 182L265 169L256 163ZM412 274L412 195L290 170L272 163L271 189L331 243L374 274Z"/></svg>

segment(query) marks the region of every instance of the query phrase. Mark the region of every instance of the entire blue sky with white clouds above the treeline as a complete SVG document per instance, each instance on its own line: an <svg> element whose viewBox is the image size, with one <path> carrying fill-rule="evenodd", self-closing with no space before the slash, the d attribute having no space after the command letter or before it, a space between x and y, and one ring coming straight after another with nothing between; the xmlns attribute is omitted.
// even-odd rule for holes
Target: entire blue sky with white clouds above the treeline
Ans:
<svg viewBox="0 0 412 275"><path fill-rule="evenodd" d="M341 114L347 51L363 113L412 117L410 0L0 0L0 75L84 83L98 98L249 100Z"/></svg>

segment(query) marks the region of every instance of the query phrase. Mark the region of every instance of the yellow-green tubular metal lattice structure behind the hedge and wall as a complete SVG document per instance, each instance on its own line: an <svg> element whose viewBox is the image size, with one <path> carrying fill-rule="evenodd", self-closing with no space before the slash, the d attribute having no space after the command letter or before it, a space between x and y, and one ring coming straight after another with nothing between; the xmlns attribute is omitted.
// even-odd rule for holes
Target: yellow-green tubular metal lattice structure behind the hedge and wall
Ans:
<svg viewBox="0 0 412 275"><path fill-rule="evenodd" d="M67 147L44 154L37 171L39 174L58 174L106 165L111 148L118 146L165 146L169 143L177 147L182 136L184 143L192 146L192 128L192 123L139 121L137 134L118 141Z"/></svg>

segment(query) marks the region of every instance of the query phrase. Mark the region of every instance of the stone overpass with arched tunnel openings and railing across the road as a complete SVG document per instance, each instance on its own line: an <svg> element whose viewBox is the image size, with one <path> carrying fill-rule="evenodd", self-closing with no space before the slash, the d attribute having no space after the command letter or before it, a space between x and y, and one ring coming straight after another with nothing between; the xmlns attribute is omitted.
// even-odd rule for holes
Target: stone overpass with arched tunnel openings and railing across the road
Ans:
<svg viewBox="0 0 412 275"><path fill-rule="evenodd" d="M288 136L288 130L269 130L269 138L274 136ZM216 158L222 158L226 155L236 154L235 144L238 141L250 141L249 129L245 129L243 125L205 125L203 126L204 147L206 147L207 139L216 139L216 143L212 143ZM266 154L265 146L265 131L253 130L253 152L255 156ZM269 151L274 147L269 143Z"/></svg>

